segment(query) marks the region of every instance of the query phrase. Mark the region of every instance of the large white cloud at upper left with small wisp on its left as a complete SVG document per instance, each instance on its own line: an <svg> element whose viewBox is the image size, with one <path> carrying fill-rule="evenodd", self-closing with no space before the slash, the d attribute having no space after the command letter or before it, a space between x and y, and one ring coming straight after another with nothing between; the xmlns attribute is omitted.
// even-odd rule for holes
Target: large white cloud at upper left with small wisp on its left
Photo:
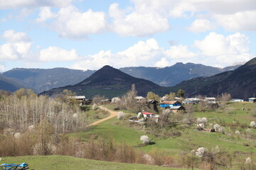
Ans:
<svg viewBox="0 0 256 170"><path fill-rule="evenodd" d="M104 12L94 12L91 9L80 12L75 6L60 8L53 13L50 8L41 8L36 22L47 21L54 18L50 27L65 38L86 39L88 34L100 33L107 29L107 20Z"/></svg>

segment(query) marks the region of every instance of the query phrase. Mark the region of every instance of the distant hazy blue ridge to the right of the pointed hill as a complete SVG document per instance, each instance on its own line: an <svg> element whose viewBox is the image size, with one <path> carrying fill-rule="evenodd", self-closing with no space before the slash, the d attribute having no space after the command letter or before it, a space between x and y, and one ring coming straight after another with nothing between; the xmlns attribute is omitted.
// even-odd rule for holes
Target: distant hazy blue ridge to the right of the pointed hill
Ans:
<svg viewBox="0 0 256 170"><path fill-rule="evenodd" d="M175 86L181 81L192 79L194 77L210 77L221 72L232 71L240 65L225 67L205 66L203 64L178 62L171 67L124 67L120 70L133 77L148 79L160 86Z"/></svg>

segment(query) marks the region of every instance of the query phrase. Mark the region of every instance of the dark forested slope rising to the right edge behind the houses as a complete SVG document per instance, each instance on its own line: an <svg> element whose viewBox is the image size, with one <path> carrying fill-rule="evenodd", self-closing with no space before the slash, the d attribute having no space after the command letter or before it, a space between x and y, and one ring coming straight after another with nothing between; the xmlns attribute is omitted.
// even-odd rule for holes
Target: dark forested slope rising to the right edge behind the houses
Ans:
<svg viewBox="0 0 256 170"><path fill-rule="evenodd" d="M250 98L256 94L256 58L234 71L223 72L212 77L197 77L183 81L171 88L183 89L186 96L217 96L229 93L233 98Z"/></svg>

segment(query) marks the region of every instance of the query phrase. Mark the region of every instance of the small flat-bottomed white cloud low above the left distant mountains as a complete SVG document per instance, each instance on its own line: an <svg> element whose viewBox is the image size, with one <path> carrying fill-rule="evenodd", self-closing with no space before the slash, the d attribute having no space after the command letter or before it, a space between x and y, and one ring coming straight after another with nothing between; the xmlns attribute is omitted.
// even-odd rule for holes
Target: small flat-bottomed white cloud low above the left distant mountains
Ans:
<svg viewBox="0 0 256 170"><path fill-rule="evenodd" d="M64 50L60 47L48 47L39 52L39 60L41 62L53 62L53 61L73 61L78 60L79 56L76 50L70 51Z"/></svg>

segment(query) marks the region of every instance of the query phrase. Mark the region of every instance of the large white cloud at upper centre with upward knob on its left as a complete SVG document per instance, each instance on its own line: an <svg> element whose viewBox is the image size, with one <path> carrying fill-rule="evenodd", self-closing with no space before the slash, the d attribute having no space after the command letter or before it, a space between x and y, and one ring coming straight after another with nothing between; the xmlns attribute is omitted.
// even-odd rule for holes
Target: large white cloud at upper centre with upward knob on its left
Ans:
<svg viewBox="0 0 256 170"><path fill-rule="evenodd" d="M167 18L156 12L139 13L132 11L125 15L118 4L110 6L110 16L113 19L113 29L120 35L145 36L161 33L169 29Z"/></svg>

